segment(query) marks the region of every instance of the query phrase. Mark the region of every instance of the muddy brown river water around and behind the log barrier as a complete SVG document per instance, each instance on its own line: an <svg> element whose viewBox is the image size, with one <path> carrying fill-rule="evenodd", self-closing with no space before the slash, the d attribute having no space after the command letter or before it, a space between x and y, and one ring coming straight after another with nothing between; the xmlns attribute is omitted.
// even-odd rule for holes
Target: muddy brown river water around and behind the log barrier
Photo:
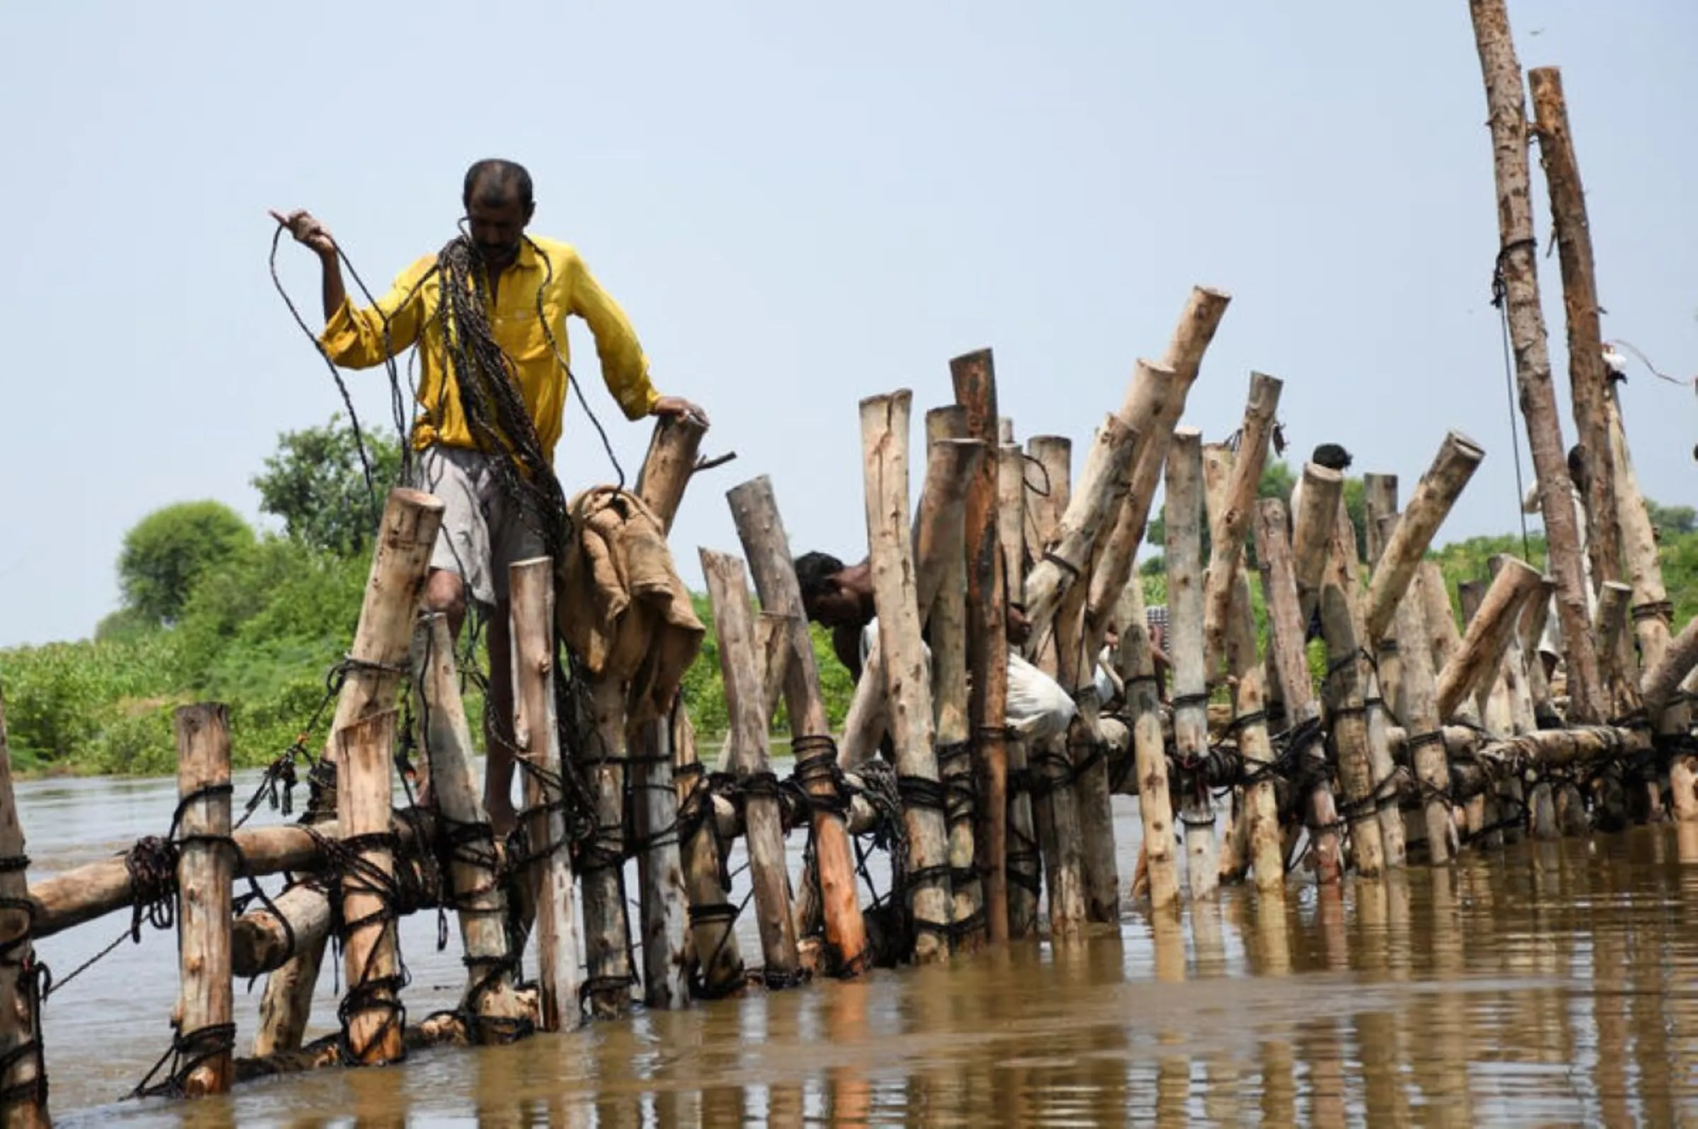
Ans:
<svg viewBox="0 0 1698 1129"><path fill-rule="evenodd" d="M253 781L238 776L238 800ZM175 784L36 781L19 803L39 879L163 834ZM1116 813L1129 876L1134 801ZM250 825L280 818L261 808ZM1647 827L1341 893L1294 883L1284 902L1228 888L1172 920L1127 908L1063 949L637 1008L192 1104L124 1100L170 1044L170 932L126 937L68 983L129 915L37 952L61 985L46 1005L59 1126L1671 1126L1698 1119L1695 907L1698 828ZM751 918L742 952L757 964ZM464 986L450 932L438 951L435 913L402 929L413 1022ZM261 986L236 985L239 1053ZM335 1029L336 990L326 968L309 1036Z"/></svg>

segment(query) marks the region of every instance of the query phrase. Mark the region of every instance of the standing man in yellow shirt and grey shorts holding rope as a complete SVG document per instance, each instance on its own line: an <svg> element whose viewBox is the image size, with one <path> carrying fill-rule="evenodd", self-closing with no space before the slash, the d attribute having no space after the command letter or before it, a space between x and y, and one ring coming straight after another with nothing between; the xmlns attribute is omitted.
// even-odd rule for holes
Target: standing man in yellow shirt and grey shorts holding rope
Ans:
<svg viewBox="0 0 1698 1129"><path fill-rule="evenodd" d="M341 278L336 241L306 211L277 222L318 253L323 265L324 329L319 343L345 368L370 368L418 346L419 414L413 423L409 486L443 501L443 525L430 562L424 603L448 616L458 638L467 599L489 613L489 764L484 806L498 834L513 812L513 676L508 632L508 565L547 553L535 501L516 496L520 480L508 460L513 450L542 457L552 475L554 450L567 396L567 316L579 316L596 340L601 375L627 419L693 414L700 407L661 396L649 379L649 362L625 311L584 267L577 251L552 239L526 236L535 212L530 173L513 161L472 165L462 188L464 243L426 255L401 272L375 307L355 307ZM455 258L458 256L458 258ZM460 263L469 270L452 270ZM475 292L457 290L470 284ZM445 292L447 290L447 292ZM457 311L455 316L450 316ZM501 372L465 375L465 365L491 360ZM460 380L477 389L464 397ZM501 380L496 389L492 380ZM494 397L523 402L518 430L501 430ZM506 452L486 453L492 443ZM530 470L535 477L535 469ZM523 474L523 472L521 472ZM552 486L552 482L550 482ZM521 492L523 494L523 492ZM467 591L470 589L470 591Z"/></svg>

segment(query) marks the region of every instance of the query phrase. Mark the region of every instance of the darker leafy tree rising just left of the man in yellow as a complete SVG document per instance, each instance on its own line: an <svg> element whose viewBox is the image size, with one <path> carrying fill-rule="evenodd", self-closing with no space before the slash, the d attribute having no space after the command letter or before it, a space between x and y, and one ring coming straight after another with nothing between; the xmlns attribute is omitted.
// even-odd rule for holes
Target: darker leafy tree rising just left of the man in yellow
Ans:
<svg viewBox="0 0 1698 1129"><path fill-rule="evenodd" d="M251 482L260 491L260 509L284 523L290 538L340 555L362 553L372 542L384 492L399 480L401 445L384 431L365 431L365 453L372 465L367 486L360 443L353 428L331 416L323 428L284 431L277 452Z"/></svg>

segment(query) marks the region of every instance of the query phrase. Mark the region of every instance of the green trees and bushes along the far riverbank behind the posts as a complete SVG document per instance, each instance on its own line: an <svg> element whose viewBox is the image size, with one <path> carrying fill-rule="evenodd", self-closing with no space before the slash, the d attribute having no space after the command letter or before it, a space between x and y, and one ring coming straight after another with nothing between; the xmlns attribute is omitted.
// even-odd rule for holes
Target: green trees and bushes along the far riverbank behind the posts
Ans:
<svg viewBox="0 0 1698 1129"><path fill-rule="evenodd" d="M368 435L382 497L401 462L392 435ZM1285 497L1292 472L1272 463L1263 496ZM260 509L280 531L256 531L228 506L188 501L165 506L124 536L117 567L122 606L93 638L0 650L0 689L12 757L22 771L163 774L175 766L171 711L190 701L229 708L236 762L265 764L297 739L318 749L319 730L302 733L326 698L326 676L343 657L370 569L372 494L340 419L285 433L253 477ZM1362 484L1347 482L1360 528ZM1698 615L1698 513L1652 506L1662 533L1662 567L1679 621ZM1161 543L1160 514L1151 542ZM1433 555L1450 581L1484 579L1493 553L1521 553L1518 536L1472 538ZM1543 542L1532 540L1535 564ZM1144 596L1165 599L1160 559L1144 565ZM1262 594L1251 586L1258 623ZM696 613L708 625L701 657L684 681L698 732L725 732L725 694L706 596ZM847 672L829 637L813 630L822 693L834 727L849 705ZM475 660L487 669L482 650ZM467 693L474 733L482 696ZM328 718L328 715L326 715ZM774 730L788 728L783 718Z"/></svg>

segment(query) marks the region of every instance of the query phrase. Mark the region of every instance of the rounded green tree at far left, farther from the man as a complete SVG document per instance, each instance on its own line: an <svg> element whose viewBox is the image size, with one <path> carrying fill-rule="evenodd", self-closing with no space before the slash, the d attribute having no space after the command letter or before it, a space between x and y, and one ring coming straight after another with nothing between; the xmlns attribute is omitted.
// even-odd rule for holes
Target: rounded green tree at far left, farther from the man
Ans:
<svg viewBox="0 0 1698 1129"><path fill-rule="evenodd" d="M253 530L224 503L178 503L155 509L124 535L119 552L119 591L124 606L136 615L122 626L134 632L138 620L173 623L207 569L251 547Z"/></svg>

